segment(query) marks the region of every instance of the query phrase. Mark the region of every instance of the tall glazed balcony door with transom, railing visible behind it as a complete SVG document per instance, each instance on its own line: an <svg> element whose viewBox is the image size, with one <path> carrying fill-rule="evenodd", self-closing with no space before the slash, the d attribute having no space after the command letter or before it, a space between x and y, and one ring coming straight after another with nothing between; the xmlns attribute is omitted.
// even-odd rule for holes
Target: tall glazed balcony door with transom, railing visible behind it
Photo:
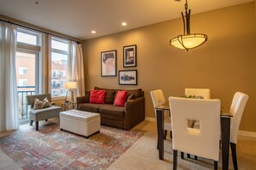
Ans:
<svg viewBox="0 0 256 170"><path fill-rule="evenodd" d="M38 94L39 59L41 56L41 33L17 27L16 82L19 96L20 123L28 120L29 106L26 96Z"/></svg>

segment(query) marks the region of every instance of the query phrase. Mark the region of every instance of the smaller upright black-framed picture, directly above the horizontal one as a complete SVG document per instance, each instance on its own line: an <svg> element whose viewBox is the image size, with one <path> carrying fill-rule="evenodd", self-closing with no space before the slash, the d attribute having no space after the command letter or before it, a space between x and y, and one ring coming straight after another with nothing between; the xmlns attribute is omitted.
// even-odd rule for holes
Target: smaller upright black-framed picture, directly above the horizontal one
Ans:
<svg viewBox="0 0 256 170"><path fill-rule="evenodd" d="M137 46L123 46L123 67L136 67Z"/></svg>

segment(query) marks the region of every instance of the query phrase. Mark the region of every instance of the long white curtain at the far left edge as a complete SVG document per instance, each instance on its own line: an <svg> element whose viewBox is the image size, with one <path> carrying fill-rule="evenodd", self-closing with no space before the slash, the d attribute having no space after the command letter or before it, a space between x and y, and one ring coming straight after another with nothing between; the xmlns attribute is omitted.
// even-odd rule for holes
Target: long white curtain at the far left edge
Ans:
<svg viewBox="0 0 256 170"><path fill-rule="evenodd" d="M0 131L19 128L16 27L0 21Z"/></svg>

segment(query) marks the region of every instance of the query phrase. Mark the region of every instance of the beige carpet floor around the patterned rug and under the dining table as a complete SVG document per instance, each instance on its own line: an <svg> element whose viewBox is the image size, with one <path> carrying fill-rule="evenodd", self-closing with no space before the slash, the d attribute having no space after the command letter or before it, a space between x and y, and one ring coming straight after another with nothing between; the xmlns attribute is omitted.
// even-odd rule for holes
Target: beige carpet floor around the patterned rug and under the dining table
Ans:
<svg viewBox="0 0 256 170"><path fill-rule="evenodd" d="M44 124L44 123L42 123ZM21 126L23 129L31 128L28 124ZM165 141L165 159L159 160L157 144L156 123L144 121L137 125L133 130L144 132L144 136L133 144L117 161L115 161L108 170L170 170L172 169L172 140L170 137ZM133 131L132 130L132 131ZM0 137L8 135L11 132L0 133ZM168 134L169 136L169 134ZM220 153L221 155L221 153ZM256 169L256 138L239 137L237 145L237 157L239 169L253 170ZM180 159L178 155L178 169L213 169L213 162L198 158L199 161L193 159ZM16 163L10 160L6 155L0 152L0 169L19 169ZM222 158L220 158L219 169L222 169ZM234 169L231 155L229 156L229 169Z"/></svg>

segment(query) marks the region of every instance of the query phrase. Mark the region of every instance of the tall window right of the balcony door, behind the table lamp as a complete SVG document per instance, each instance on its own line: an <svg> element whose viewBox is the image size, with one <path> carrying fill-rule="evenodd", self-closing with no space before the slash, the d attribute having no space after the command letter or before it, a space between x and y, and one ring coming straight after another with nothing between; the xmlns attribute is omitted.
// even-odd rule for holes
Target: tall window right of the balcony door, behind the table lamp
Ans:
<svg viewBox="0 0 256 170"><path fill-rule="evenodd" d="M55 97L65 97L66 90L64 84L67 81L66 72L68 71L68 40L51 38L51 72L52 72L52 94Z"/></svg>

